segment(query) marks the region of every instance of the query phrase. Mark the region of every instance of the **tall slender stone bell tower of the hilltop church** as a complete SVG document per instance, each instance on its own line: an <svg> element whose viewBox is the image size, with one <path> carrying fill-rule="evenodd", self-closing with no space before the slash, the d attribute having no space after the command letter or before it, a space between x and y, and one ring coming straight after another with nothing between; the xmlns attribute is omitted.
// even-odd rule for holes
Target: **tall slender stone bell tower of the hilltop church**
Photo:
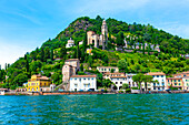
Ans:
<svg viewBox="0 0 189 125"><path fill-rule="evenodd" d="M108 42L108 27L106 20L103 20L101 25L101 34L102 34L102 50L105 50Z"/></svg>

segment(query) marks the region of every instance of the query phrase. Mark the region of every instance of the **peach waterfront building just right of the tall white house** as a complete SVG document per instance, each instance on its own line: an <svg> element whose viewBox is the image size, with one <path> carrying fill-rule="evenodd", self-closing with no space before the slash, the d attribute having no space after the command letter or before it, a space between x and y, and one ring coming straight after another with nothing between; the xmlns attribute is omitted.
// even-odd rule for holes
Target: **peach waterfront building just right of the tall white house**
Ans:
<svg viewBox="0 0 189 125"><path fill-rule="evenodd" d="M166 79L167 88L177 87L179 90L183 88L183 82L181 77L167 77Z"/></svg>

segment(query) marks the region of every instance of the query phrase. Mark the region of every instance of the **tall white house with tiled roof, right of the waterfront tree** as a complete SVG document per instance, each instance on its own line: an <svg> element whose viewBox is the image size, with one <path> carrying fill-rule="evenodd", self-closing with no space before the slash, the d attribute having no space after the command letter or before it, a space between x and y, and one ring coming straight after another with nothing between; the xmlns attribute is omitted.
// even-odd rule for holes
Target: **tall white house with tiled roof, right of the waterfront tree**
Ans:
<svg viewBox="0 0 189 125"><path fill-rule="evenodd" d="M146 75L151 75L153 77L153 81L158 81L158 83L156 82L152 82L151 83L151 91L165 91L167 87L166 87L166 74L163 72L150 72L150 73L147 73Z"/></svg>

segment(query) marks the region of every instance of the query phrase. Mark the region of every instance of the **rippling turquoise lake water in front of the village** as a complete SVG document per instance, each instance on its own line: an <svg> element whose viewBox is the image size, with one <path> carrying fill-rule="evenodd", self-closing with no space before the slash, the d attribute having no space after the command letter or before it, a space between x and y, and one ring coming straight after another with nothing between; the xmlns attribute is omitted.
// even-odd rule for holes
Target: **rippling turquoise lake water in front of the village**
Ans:
<svg viewBox="0 0 189 125"><path fill-rule="evenodd" d="M0 96L0 124L189 124L189 94Z"/></svg>

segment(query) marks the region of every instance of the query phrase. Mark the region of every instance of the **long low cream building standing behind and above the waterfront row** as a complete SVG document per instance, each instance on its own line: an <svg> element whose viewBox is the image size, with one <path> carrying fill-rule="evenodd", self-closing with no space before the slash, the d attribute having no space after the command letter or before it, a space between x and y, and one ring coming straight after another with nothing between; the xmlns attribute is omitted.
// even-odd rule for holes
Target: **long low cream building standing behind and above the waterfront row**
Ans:
<svg viewBox="0 0 189 125"><path fill-rule="evenodd" d="M113 72L119 72L119 69L117 66L97 66L97 70L100 73L110 73L112 70Z"/></svg>

